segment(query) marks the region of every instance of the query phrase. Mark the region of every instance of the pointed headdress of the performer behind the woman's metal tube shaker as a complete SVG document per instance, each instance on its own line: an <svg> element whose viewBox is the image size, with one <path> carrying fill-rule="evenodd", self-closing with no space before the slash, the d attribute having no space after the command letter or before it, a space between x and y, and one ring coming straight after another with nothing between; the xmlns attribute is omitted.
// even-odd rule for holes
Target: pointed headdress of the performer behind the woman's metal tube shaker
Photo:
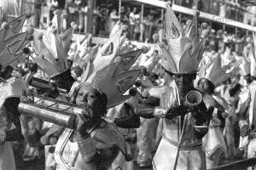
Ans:
<svg viewBox="0 0 256 170"><path fill-rule="evenodd" d="M37 56L33 59L49 78L68 71L67 52L70 48L72 35L73 29L70 28L60 35L55 32L53 38L49 40L42 33L34 31L33 45Z"/></svg>

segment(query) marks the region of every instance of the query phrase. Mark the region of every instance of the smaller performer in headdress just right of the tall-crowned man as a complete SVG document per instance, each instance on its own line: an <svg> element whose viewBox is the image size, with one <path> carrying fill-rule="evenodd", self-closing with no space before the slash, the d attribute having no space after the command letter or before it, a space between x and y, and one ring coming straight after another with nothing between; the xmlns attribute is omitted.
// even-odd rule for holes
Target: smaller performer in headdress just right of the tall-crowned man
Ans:
<svg viewBox="0 0 256 170"><path fill-rule="evenodd" d="M231 65L221 66L220 54L212 56L208 63L201 67L198 77L198 88L202 94L212 95L219 104L223 105L225 110L229 109L228 103L214 95L214 88L218 87L227 78L233 77L236 71L229 71ZM227 146L224 141L223 129L225 127L225 114L217 109L214 109L212 118L209 124L208 133L202 139L203 150L206 152L207 169L218 166L218 161L221 156L227 156Z"/></svg>

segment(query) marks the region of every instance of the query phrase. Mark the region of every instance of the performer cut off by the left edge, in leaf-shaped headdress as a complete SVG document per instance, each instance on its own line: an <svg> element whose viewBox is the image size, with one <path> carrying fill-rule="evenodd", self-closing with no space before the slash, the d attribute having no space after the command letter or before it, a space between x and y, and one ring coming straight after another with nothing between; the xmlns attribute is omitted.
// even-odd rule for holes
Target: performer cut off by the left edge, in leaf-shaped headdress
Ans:
<svg viewBox="0 0 256 170"><path fill-rule="evenodd" d="M26 15L9 23L3 23L0 30L0 169L15 170L15 157L10 141L23 140L20 129L18 104L26 82L11 77L11 71L24 59L23 48L28 40L27 32L20 32Z"/></svg>

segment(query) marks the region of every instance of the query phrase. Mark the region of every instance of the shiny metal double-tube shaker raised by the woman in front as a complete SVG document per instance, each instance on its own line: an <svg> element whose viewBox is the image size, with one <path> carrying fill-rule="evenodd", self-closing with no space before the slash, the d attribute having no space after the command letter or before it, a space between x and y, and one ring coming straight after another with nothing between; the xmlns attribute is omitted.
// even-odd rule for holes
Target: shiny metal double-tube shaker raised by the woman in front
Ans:
<svg viewBox="0 0 256 170"><path fill-rule="evenodd" d="M18 110L26 116L37 117L71 129L75 128L77 114L87 114L86 108L82 106L39 96L34 96L32 103L20 102Z"/></svg>

